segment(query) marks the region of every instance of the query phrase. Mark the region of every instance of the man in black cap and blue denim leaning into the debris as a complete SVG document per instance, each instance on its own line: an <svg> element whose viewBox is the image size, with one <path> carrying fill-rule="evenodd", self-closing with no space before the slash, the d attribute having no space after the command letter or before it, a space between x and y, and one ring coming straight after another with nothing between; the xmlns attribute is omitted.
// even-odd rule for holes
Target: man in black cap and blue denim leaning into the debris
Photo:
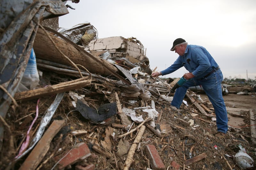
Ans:
<svg viewBox="0 0 256 170"><path fill-rule="evenodd" d="M173 42L171 51L179 54L177 60L167 69L152 73L152 77L170 74L184 66L189 73L185 73L183 77L190 80L176 89L171 106L180 108L188 87L202 85L215 110L218 129L215 136L226 137L228 115L222 97L221 82L223 81L223 75L220 67L204 47L188 45L188 42L182 38Z"/></svg>

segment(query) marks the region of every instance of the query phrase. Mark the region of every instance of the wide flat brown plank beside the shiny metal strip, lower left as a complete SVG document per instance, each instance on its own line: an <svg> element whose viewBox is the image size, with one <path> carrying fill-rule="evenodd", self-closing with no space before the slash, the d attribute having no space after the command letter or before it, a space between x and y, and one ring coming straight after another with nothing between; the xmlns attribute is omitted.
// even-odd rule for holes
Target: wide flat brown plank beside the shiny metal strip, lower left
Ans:
<svg viewBox="0 0 256 170"><path fill-rule="evenodd" d="M46 130L43 137L39 140L35 148L28 155L27 159L20 166L19 170L36 169L45 154L48 152L53 137L59 132L64 124L64 120L55 120L52 122L51 126Z"/></svg>

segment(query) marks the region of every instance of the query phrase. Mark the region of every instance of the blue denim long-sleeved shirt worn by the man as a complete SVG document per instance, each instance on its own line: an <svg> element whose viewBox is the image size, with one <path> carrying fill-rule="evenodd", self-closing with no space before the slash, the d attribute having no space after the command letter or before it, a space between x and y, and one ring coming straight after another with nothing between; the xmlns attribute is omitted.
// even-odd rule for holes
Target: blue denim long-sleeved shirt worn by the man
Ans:
<svg viewBox="0 0 256 170"><path fill-rule="evenodd" d="M218 64L204 47L187 45L184 55L179 55L177 60L161 73L170 74L183 66L195 76L195 79L200 79L218 67Z"/></svg>

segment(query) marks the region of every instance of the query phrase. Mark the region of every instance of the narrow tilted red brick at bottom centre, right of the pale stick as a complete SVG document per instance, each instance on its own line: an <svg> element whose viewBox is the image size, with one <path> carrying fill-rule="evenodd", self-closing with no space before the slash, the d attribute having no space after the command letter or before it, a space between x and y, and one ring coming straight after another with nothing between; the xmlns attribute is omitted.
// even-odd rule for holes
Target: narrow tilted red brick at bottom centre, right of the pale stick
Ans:
<svg viewBox="0 0 256 170"><path fill-rule="evenodd" d="M159 156L156 147L154 145L147 145L146 146L146 153L148 155L148 159L150 161L150 166L155 170L162 170L165 169L164 163Z"/></svg>

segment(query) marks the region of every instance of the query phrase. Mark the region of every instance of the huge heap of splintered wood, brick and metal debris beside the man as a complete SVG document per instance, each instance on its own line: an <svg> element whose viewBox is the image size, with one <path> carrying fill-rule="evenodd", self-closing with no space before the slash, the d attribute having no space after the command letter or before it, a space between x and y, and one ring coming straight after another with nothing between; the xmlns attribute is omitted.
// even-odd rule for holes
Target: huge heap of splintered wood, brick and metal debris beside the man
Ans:
<svg viewBox="0 0 256 170"><path fill-rule="evenodd" d="M179 78L152 78L139 40L97 39L89 23L57 32L39 21L67 7L30 4L1 33L3 169L240 169L241 147L254 166L250 129L214 137L207 98L188 91L180 109L170 107ZM19 91L31 49L40 81Z"/></svg>

